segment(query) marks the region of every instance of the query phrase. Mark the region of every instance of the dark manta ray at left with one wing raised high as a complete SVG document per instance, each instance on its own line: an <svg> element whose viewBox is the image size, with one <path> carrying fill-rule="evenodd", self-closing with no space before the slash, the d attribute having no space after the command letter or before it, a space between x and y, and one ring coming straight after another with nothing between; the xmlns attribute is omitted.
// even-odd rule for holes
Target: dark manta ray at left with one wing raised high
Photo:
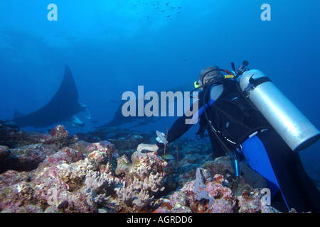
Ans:
<svg viewBox="0 0 320 227"><path fill-rule="evenodd" d="M15 109L14 118L11 119L11 121L16 122L18 126L22 128L27 126L43 128L55 123L63 123L68 127L82 127L85 126L85 123L74 116L80 111L82 111L88 119L91 118L87 106L78 102L78 89L75 86L73 74L71 74L68 65L65 65L63 81L48 104L30 114L22 114Z"/></svg>

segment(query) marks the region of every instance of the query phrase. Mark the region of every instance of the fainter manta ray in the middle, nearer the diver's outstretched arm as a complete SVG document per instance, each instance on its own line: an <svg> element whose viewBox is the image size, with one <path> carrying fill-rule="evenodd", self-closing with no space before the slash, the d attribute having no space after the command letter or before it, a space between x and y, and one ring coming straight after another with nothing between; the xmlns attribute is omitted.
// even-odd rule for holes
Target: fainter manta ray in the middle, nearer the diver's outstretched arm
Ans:
<svg viewBox="0 0 320 227"><path fill-rule="evenodd" d="M164 91L164 92L191 92L192 89L194 89L193 87L193 84L194 82L188 82L187 84L184 84L180 87L176 87L174 89L169 89L167 91ZM156 92L156 94L158 94L159 96L159 100L160 100L160 93L161 92ZM177 101L175 99L175 101ZM160 101L159 101L160 103ZM169 102L166 103L167 104L167 110L169 109L168 105L169 105ZM114 114L114 118L112 119L112 121L110 121L109 123L106 123L105 125L103 126L100 126L100 127L97 127L97 128L109 128L109 127L115 127L115 126L120 126L122 125L123 123L132 123L134 121L137 121L137 120L141 120L142 122L138 123L136 126L141 126L141 125L146 125L148 123L151 123L151 122L155 122L155 121L158 121L159 118L156 119L156 117L154 116L151 116L151 117L147 117L147 116L123 116L122 115L122 106L124 105L124 102L122 102L122 104L119 105L119 108L117 109L117 111L115 112ZM144 106L146 105L146 101L144 100ZM160 109L160 107L159 107ZM136 126L132 126L131 128L133 127L136 127Z"/></svg>

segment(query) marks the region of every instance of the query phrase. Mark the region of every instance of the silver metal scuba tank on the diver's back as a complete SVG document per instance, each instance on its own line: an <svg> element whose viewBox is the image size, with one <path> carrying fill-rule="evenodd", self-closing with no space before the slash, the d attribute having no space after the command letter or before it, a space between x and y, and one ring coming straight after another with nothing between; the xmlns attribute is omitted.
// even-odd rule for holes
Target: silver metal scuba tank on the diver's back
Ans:
<svg viewBox="0 0 320 227"><path fill-rule="evenodd" d="M319 130L259 70L244 72L240 88L293 151L319 140Z"/></svg>

